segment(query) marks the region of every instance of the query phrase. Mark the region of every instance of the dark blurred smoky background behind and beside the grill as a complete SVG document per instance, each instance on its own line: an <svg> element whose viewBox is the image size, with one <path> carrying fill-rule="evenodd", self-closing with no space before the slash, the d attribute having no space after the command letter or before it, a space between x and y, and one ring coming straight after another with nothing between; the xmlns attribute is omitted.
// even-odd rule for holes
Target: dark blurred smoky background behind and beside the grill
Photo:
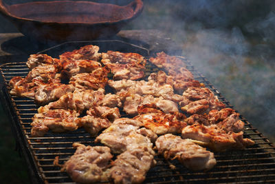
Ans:
<svg viewBox="0 0 275 184"><path fill-rule="evenodd" d="M236 110L275 141L274 2L147 0L140 17L124 29L162 30ZM17 32L1 16L0 25L0 32ZM25 163L14 151L10 120L1 107L0 116L0 181L29 183Z"/></svg>

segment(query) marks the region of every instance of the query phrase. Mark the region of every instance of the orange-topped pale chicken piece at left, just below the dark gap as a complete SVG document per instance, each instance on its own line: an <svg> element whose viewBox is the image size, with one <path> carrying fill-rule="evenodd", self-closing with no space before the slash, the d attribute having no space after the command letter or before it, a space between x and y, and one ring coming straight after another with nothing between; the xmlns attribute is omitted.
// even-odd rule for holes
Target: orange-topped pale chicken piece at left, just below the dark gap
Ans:
<svg viewBox="0 0 275 184"><path fill-rule="evenodd" d="M34 101L40 105L45 105L51 101L56 101L67 92L73 92L73 85L66 85L62 83L47 83L40 84L35 89Z"/></svg>

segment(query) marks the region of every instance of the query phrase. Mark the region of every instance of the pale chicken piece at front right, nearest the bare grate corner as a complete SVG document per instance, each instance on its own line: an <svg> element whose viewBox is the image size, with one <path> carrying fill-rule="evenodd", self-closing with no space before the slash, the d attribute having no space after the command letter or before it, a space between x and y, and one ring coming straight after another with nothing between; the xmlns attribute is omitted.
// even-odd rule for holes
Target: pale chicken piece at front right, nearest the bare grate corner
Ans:
<svg viewBox="0 0 275 184"><path fill-rule="evenodd" d="M181 139L180 136L165 134L155 141L157 151L165 159L177 159L190 170L210 170L216 165L214 154L190 139Z"/></svg>

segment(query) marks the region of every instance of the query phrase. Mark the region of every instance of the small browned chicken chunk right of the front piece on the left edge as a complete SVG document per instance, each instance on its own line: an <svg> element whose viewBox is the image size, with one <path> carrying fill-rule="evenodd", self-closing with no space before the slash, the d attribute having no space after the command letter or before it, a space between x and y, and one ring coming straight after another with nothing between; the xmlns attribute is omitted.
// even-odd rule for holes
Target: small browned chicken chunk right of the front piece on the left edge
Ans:
<svg viewBox="0 0 275 184"><path fill-rule="evenodd" d="M100 130L111 126L109 119L102 119L90 115L80 118L80 123L91 136L97 136Z"/></svg>

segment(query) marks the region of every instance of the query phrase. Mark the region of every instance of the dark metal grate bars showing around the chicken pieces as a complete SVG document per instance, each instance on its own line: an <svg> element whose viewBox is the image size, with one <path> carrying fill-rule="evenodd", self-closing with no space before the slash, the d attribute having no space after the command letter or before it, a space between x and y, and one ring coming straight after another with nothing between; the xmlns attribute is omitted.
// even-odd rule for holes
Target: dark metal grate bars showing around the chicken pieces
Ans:
<svg viewBox="0 0 275 184"><path fill-rule="evenodd" d="M192 72L195 79L210 88L228 108L233 108L189 61L183 57L181 59L186 63L188 70ZM154 65L148 63L146 76L157 70ZM25 77L28 72L25 62L1 65L1 75L7 86L12 77ZM38 107L33 100L24 97L10 96L10 100L12 103L10 105L14 108L19 120L16 122L20 129L18 131L21 131L23 139L28 144L28 154L34 162L34 170L36 170L38 177L45 183L72 183L66 172L61 172L60 167L53 165L54 159L59 156L59 163L63 164L69 159L69 156L74 154L75 150L72 143L95 145L94 138L91 138L83 128L63 134L47 132L44 137L32 138L30 136L30 123ZM171 170L170 163L162 159L161 156L155 156L157 165L149 170L144 183L274 183L274 145L256 128L252 127L246 119L240 117L245 122L244 137L255 141L254 146L245 150L214 153L217 165L208 172L191 172L177 161L170 162L176 166L175 170Z"/></svg>

